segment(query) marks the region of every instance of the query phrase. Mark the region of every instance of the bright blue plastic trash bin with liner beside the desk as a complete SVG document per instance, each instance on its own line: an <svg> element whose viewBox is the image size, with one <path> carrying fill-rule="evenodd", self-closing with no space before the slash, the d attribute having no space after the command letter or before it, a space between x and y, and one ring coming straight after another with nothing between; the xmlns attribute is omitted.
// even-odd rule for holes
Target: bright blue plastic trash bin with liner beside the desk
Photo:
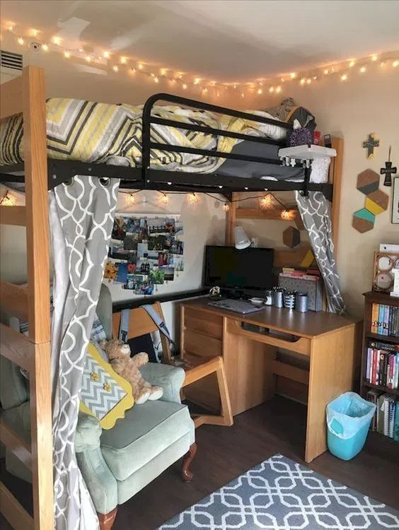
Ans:
<svg viewBox="0 0 399 530"><path fill-rule="evenodd" d="M328 449L342 460L362 451L376 405L355 392L345 392L327 406Z"/></svg>

